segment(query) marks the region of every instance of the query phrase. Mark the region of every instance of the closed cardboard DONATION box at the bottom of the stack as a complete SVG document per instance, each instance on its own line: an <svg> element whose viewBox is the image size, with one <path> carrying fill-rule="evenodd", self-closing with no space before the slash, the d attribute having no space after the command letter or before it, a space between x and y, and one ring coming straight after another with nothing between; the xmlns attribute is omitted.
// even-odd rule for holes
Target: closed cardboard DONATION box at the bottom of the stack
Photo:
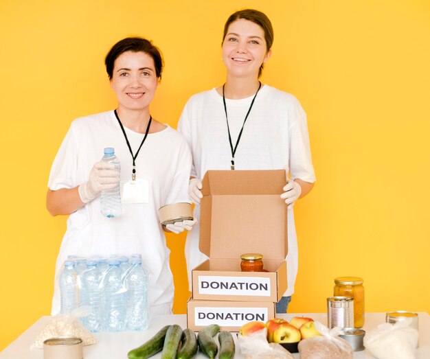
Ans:
<svg viewBox="0 0 430 359"><path fill-rule="evenodd" d="M266 323L275 317L275 303L262 301L196 301L187 303L187 327L197 332L210 324L220 330L238 332L251 321Z"/></svg>

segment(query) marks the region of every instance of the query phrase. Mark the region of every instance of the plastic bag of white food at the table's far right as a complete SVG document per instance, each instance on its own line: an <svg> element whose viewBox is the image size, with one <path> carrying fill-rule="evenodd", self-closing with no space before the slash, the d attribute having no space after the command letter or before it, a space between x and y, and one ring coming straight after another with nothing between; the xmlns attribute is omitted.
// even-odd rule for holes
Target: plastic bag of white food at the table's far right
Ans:
<svg viewBox="0 0 430 359"><path fill-rule="evenodd" d="M383 323L366 333L364 346L378 359L415 359L418 330L412 319Z"/></svg>

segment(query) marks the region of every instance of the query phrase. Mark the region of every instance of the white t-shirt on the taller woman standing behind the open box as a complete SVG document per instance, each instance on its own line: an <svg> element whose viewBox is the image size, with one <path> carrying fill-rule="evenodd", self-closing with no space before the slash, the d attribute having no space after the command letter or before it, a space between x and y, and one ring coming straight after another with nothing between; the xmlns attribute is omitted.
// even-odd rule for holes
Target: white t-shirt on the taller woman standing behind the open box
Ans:
<svg viewBox="0 0 430 359"><path fill-rule="evenodd" d="M241 100L225 100L233 148L252 99L253 95ZM215 89L188 100L178 130L192 150L191 176L203 178L207 170L230 170L231 148L223 97ZM234 162L236 170L280 170L288 166L291 178L315 182L306 113L293 95L262 86L242 132ZM194 216L199 219L199 214L200 206L196 205ZM192 268L207 259L199 251L199 227L188 233L185 257L191 285ZM288 211L286 262L288 289L284 295L291 295L298 263L293 210Z"/></svg>

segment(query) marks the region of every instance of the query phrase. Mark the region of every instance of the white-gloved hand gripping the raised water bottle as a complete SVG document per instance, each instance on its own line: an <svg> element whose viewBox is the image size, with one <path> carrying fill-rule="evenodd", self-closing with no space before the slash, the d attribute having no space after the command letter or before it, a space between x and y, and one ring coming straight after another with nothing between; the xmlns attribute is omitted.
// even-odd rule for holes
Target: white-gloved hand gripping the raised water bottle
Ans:
<svg viewBox="0 0 430 359"><path fill-rule="evenodd" d="M96 162L89 172L89 180L78 187L80 200L91 202L100 196L102 189L111 189L120 182L120 172L113 163Z"/></svg>

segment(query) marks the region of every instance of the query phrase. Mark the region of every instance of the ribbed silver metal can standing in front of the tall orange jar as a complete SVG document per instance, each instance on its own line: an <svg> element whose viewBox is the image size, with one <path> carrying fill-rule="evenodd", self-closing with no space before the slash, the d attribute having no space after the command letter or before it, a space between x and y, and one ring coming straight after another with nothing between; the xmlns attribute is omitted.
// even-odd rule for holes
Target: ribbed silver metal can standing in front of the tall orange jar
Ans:
<svg viewBox="0 0 430 359"><path fill-rule="evenodd" d="M354 327L354 299L351 297L327 298L327 327Z"/></svg>

